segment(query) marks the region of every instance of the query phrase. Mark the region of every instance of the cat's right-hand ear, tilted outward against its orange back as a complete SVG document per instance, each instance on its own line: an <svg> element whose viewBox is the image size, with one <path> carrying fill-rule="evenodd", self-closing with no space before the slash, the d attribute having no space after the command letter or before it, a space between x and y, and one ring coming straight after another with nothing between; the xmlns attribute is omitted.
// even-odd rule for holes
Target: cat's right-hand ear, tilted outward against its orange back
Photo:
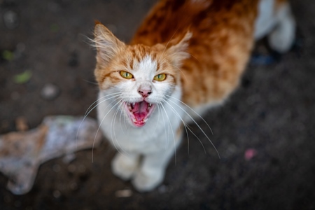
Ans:
<svg viewBox="0 0 315 210"><path fill-rule="evenodd" d="M193 34L188 31L179 42L176 41L176 44L171 45L171 47L167 49L169 57L171 57L175 66L181 66L183 59L190 57L189 53L187 52L187 48L188 41L190 40L191 36L193 36Z"/></svg>

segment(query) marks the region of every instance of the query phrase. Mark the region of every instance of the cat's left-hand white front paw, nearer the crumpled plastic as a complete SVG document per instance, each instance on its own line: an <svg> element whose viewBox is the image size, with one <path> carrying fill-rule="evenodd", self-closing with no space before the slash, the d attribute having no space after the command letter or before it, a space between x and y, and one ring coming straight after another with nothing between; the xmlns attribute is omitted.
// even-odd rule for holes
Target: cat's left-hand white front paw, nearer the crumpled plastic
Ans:
<svg viewBox="0 0 315 210"><path fill-rule="evenodd" d="M125 181L132 178L138 168L137 157L127 157L120 153L115 155L115 158L111 161L111 170L113 174Z"/></svg>

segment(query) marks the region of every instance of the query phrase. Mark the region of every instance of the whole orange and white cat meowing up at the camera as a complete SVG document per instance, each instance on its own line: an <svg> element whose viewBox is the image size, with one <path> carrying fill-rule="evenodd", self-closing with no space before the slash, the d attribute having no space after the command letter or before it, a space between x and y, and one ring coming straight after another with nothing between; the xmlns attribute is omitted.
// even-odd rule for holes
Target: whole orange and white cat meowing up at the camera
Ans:
<svg viewBox="0 0 315 210"><path fill-rule="evenodd" d="M139 192L159 186L183 133L193 132L186 125L225 102L263 36L290 49L288 1L162 0L129 44L96 22L97 117L118 151L113 174Z"/></svg>

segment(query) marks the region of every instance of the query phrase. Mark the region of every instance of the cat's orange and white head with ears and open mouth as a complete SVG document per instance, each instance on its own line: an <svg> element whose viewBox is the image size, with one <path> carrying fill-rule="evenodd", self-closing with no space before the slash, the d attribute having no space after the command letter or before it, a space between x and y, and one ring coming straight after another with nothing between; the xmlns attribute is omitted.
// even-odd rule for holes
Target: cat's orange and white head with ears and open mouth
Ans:
<svg viewBox="0 0 315 210"><path fill-rule="evenodd" d="M127 45L104 25L94 29L97 66L94 71L100 91L118 93L118 106L136 127L145 125L156 106L179 90L181 63L188 57L190 33L153 46Z"/></svg>

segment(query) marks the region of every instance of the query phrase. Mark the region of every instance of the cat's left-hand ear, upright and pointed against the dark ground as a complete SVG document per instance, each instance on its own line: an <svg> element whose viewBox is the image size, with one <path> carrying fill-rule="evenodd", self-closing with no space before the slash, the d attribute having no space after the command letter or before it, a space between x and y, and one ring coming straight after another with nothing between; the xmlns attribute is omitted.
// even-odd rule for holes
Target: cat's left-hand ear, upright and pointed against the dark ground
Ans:
<svg viewBox="0 0 315 210"><path fill-rule="evenodd" d="M119 50L125 47L125 43L116 38L102 23L95 22L94 46L97 48L97 62L107 64Z"/></svg>

